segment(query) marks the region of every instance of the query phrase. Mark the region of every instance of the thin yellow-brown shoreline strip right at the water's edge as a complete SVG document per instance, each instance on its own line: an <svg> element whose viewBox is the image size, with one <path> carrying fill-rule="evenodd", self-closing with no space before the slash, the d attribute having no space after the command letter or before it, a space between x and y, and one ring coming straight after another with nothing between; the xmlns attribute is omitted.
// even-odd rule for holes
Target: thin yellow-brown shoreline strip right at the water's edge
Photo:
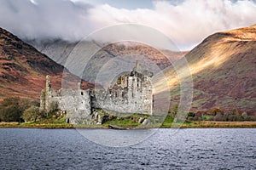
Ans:
<svg viewBox="0 0 256 170"><path fill-rule="evenodd" d="M183 124L173 124L172 128L256 128L256 122L209 122L198 121ZM109 125L78 125L73 126L67 123L19 123L19 122L0 122L0 128L42 128L42 129L113 129ZM131 126L121 126L126 129L143 129L143 128L171 128L171 126L149 125L143 127L132 128Z"/></svg>

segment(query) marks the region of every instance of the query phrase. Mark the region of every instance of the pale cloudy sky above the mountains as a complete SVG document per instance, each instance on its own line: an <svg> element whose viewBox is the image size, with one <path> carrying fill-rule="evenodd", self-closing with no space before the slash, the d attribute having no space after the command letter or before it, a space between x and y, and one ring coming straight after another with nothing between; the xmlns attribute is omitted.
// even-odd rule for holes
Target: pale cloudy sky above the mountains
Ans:
<svg viewBox="0 0 256 170"><path fill-rule="evenodd" d="M256 24L255 1L0 0L0 27L21 39L79 41L106 26L152 27L190 50L217 31Z"/></svg>

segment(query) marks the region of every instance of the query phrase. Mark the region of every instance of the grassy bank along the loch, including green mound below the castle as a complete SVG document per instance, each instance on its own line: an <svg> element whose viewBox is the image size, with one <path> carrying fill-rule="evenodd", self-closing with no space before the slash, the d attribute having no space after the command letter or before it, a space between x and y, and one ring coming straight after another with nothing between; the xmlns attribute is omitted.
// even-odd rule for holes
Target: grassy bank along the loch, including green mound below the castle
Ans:
<svg viewBox="0 0 256 170"><path fill-rule="evenodd" d="M140 117L148 118L152 124L142 125L137 122ZM206 117L207 118L207 117ZM129 128L256 128L256 122L213 122L213 121L192 121L192 122L173 122L173 118L166 116L163 123L162 116L146 116L134 114L119 119L110 120L102 125L75 125L66 123L65 117L45 118L38 122L0 122L0 127L18 127L18 128L108 128L108 125L117 125L119 127Z"/></svg>

